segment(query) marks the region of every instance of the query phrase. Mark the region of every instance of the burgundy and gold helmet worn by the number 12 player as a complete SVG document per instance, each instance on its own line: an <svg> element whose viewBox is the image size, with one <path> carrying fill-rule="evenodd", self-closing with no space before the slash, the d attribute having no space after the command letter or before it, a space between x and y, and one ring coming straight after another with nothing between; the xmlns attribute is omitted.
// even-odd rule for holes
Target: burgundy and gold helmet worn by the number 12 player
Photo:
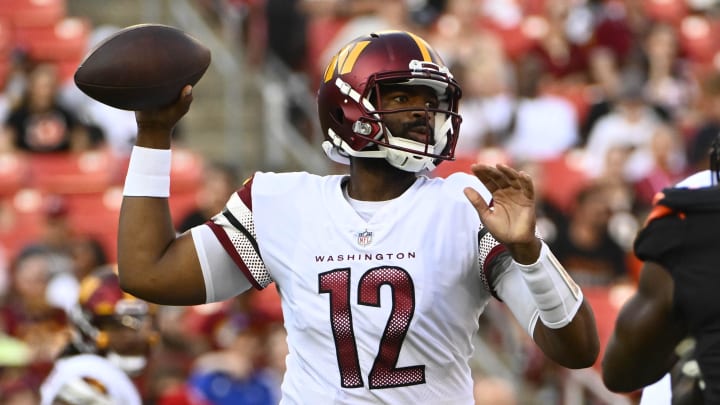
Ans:
<svg viewBox="0 0 720 405"><path fill-rule="evenodd" d="M393 136L383 124L392 111L379 109L384 84L427 86L435 90L439 105L433 113L434 136L421 143ZM440 56L415 34L385 31L360 37L335 55L322 77L317 103L332 160L349 164L350 156L384 158L409 172L432 170L455 154L461 118L461 90Z"/></svg>

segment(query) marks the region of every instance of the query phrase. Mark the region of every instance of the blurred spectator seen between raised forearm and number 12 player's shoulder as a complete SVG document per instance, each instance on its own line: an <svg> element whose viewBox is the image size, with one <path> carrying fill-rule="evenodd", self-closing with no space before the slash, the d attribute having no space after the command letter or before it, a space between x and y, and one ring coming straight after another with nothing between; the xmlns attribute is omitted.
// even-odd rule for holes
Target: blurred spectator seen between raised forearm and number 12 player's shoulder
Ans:
<svg viewBox="0 0 720 405"><path fill-rule="evenodd" d="M238 172L234 166L222 162L207 162L197 190L197 207L180 221L178 232L202 225L221 212L238 186Z"/></svg>

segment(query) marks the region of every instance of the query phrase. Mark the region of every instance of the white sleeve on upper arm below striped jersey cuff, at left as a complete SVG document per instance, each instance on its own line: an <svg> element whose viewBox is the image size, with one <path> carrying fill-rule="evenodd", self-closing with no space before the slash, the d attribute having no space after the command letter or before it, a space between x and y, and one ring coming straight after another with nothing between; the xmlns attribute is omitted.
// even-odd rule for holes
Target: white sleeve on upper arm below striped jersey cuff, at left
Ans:
<svg viewBox="0 0 720 405"><path fill-rule="evenodd" d="M206 302L224 301L252 287L209 226L196 226L190 232L205 280Z"/></svg>

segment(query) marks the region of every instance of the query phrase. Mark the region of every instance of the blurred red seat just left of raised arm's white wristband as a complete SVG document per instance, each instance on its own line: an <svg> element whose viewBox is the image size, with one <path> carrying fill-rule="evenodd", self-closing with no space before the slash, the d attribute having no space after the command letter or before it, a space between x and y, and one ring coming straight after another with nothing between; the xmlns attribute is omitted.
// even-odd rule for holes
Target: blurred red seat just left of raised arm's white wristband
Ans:
<svg viewBox="0 0 720 405"><path fill-rule="evenodd" d="M29 154L30 185L44 192L102 192L115 179L116 161L106 150Z"/></svg>

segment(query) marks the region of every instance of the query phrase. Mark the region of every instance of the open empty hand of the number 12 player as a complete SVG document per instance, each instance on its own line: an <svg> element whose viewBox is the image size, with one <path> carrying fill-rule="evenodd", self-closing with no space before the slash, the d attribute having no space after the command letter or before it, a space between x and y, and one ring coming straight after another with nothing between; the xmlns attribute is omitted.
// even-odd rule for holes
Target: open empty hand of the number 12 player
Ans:
<svg viewBox="0 0 720 405"><path fill-rule="evenodd" d="M474 164L471 169L492 193L492 207L472 188L465 189L465 196L495 239L506 245L536 243L535 190L530 176L502 164Z"/></svg>

